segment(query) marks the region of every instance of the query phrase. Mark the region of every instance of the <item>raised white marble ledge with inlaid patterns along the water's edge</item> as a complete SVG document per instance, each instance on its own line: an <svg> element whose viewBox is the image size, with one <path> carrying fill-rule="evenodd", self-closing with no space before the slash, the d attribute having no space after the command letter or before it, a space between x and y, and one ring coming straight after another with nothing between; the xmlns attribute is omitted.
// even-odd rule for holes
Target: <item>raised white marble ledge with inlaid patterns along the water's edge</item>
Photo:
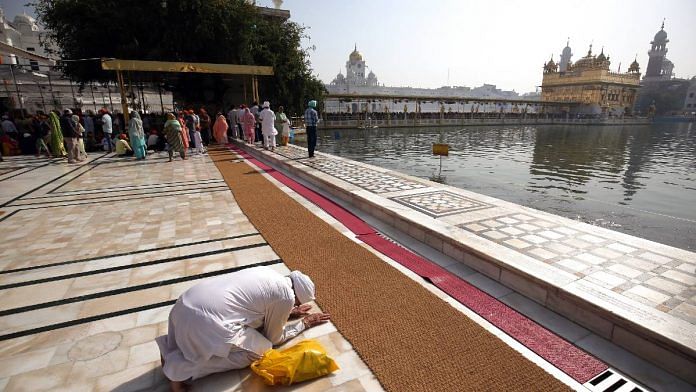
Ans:
<svg viewBox="0 0 696 392"><path fill-rule="evenodd" d="M245 149L696 383L696 254L292 145Z"/></svg>

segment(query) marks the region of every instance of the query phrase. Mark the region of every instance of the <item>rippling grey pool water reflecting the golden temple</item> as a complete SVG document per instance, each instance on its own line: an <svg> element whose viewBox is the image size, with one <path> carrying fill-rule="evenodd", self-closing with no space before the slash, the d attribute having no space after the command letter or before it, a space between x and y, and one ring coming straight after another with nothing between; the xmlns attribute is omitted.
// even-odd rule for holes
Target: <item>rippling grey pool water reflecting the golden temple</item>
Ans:
<svg viewBox="0 0 696 392"><path fill-rule="evenodd" d="M696 129L510 126L320 131L319 150L696 249Z"/></svg>

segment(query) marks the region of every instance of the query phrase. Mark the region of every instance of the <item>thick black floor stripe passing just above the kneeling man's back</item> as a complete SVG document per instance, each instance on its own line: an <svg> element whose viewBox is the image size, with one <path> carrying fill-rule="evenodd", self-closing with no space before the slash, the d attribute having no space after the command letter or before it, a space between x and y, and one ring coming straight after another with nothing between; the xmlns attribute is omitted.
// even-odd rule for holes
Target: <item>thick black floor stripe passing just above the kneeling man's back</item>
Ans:
<svg viewBox="0 0 696 392"><path fill-rule="evenodd" d="M275 263L276 261L277 261L277 259L271 260L269 262ZM259 262L259 263L253 263L251 265L264 265L263 263L266 263L266 262L264 261L264 262ZM239 268L239 267L232 267L232 268L222 269L222 270L218 270L218 271L206 272L206 273L199 274L199 275L182 276L179 278L160 280L158 282L144 283L144 284L140 284L140 285L136 285L136 286L121 287L119 289L107 290L107 291L102 291L99 293L85 294L85 295L80 295L77 297L62 298L59 300L43 302L40 304L20 306L17 308L6 309L6 310L0 311L0 317L9 316L12 314L17 314L17 313L30 312L32 310L50 308L53 306L67 305L67 304L71 304L74 302L89 301L91 299L97 299L97 298L102 298L102 297L109 297L112 295L130 293L132 291L137 291L137 290L151 289L153 287L168 286L168 285L172 285L172 284L176 284L176 283L187 282L189 280L202 279L202 278L206 278L206 277L213 276L213 275L233 272L232 270L234 270L235 268ZM206 274L213 274L213 275L206 275Z"/></svg>

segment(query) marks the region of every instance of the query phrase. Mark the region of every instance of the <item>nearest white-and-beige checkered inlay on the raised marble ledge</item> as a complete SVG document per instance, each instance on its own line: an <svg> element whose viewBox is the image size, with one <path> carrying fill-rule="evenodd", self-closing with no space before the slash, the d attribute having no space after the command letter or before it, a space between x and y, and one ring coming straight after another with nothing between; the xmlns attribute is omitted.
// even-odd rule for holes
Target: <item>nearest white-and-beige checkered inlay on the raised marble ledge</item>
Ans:
<svg viewBox="0 0 696 392"><path fill-rule="evenodd" d="M645 305L696 322L696 265L526 214L458 225Z"/></svg>

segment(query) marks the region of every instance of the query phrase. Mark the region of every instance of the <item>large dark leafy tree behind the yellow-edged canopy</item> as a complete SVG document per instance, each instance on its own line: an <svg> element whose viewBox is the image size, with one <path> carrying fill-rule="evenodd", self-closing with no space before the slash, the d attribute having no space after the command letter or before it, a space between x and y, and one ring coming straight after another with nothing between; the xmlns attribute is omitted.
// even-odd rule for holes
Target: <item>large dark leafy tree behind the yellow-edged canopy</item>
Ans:
<svg viewBox="0 0 696 392"><path fill-rule="evenodd" d="M264 99L299 112L324 88L301 47L305 28L265 17L245 0L38 0L32 3L47 42L65 60L63 72L82 83L113 81L99 58L267 65L275 75L261 83ZM173 76L173 75L169 75ZM221 75L178 74L172 84L188 102L220 103ZM211 94L203 94L212 91ZM203 98L205 97L205 98Z"/></svg>

